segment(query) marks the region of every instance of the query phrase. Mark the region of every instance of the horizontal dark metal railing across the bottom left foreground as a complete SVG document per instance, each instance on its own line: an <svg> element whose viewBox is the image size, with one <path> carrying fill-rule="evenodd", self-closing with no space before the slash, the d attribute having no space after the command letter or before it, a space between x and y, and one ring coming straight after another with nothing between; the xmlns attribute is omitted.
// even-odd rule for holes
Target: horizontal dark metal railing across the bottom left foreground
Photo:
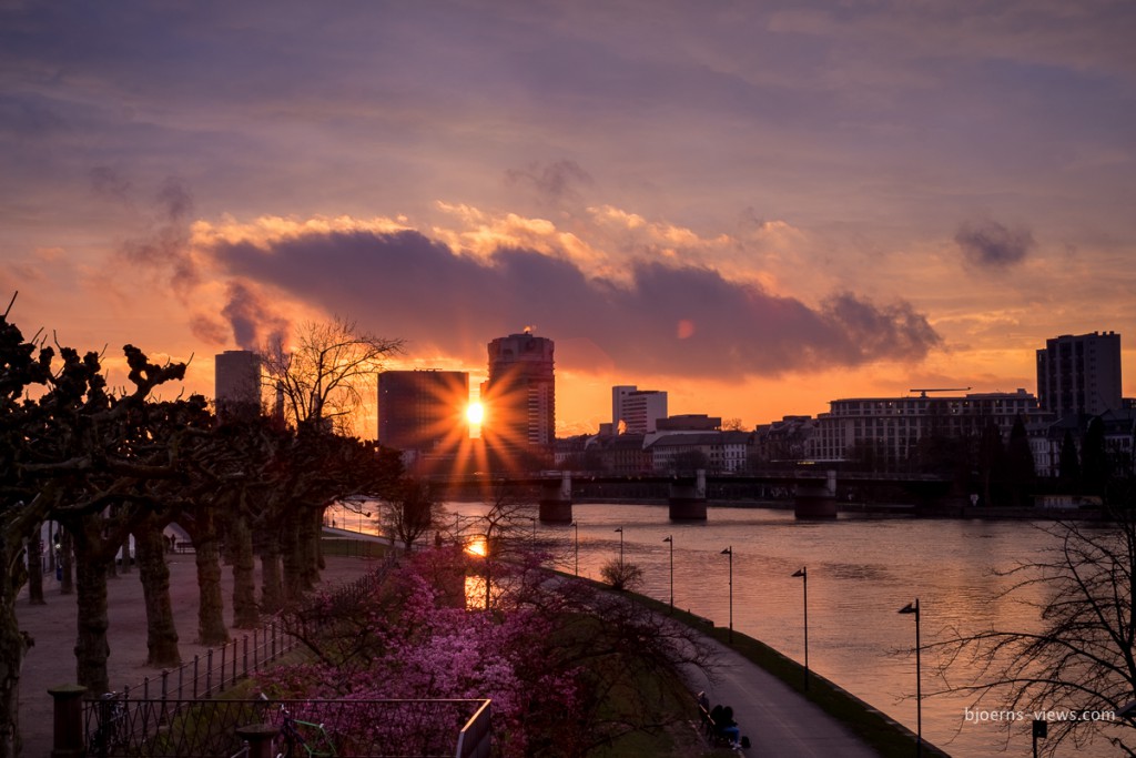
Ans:
<svg viewBox="0 0 1136 758"><path fill-rule="evenodd" d="M240 727L270 724L318 755L467 758L488 755L487 700L125 700L86 709L89 758L216 758L245 755ZM290 719L285 726L285 719ZM465 748L462 748L465 745ZM272 755L276 755L273 752ZM293 753L296 755L296 753ZM301 751L299 755L304 755ZM314 753L315 755L315 753Z"/></svg>

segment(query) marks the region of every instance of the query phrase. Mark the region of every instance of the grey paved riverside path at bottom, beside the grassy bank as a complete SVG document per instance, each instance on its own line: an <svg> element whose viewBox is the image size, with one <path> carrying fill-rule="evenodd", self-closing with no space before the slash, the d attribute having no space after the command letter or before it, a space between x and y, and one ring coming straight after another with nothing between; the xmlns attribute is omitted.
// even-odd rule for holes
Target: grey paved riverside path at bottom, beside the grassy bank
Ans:
<svg viewBox="0 0 1136 758"><path fill-rule="evenodd" d="M717 683L690 675L711 707L734 708L734 720L750 738L746 756L777 758L877 758L879 755L819 707L757 664L710 640L718 653Z"/></svg>

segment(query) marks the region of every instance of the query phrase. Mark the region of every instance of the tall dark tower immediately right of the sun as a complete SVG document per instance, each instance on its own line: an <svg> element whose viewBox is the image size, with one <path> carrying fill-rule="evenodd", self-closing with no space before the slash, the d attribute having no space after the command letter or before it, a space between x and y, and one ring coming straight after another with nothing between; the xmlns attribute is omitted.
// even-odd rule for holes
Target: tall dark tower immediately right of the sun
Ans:
<svg viewBox="0 0 1136 758"><path fill-rule="evenodd" d="M488 343L488 380L482 385L486 445L501 452L544 455L556 441L552 340L529 331Z"/></svg>

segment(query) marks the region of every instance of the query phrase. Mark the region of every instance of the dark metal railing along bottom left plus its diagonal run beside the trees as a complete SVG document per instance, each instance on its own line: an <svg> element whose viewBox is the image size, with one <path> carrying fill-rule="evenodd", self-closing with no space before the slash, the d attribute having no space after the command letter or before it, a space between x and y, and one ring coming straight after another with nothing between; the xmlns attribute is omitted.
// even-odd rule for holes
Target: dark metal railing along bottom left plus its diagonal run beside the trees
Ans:
<svg viewBox="0 0 1136 758"><path fill-rule="evenodd" d="M339 756L490 755L488 700L234 700L216 698L318 635L361 597L377 591L394 559L251 635L141 684L83 699L65 685L56 698L56 751L87 758L259 758L275 756L285 715L293 732L318 728ZM141 695L141 697L140 697ZM80 743L80 740L82 741Z"/></svg>

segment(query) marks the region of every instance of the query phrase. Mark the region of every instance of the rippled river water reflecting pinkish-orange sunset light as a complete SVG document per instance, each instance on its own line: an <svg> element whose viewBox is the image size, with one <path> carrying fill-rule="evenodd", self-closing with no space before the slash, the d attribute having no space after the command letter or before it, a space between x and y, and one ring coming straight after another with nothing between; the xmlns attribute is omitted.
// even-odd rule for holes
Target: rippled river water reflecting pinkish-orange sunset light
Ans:
<svg viewBox="0 0 1136 758"><path fill-rule="evenodd" d="M486 506L452 502L462 516ZM576 503L579 573L599 577L618 558L623 528L626 560L644 572L641 591L669 600L670 543L674 542L675 605L725 626L729 617L729 557L733 550L734 628L803 661L803 588L793 573L808 568L809 664L812 670L849 690L893 718L916 728L914 616L900 608L919 599L926 645L958 626L978 631L1033 630L1037 611L1000 598L1010 580L992 569L1043 556L1054 539L1026 522L920 519L842 514L835 520L797 520L791 510L708 509L705 522L671 522L666 506ZM476 526L470 522L470 532ZM575 568L576 528L534 524L536 539L560 545L560 567ZM1038 595L1014 595L1038 600ZM934 657L922 655L924 691L938 689ZM1021 728L1009 735L989 723L968 723L969 699L925 698L924 738L954 756L1029 756L1031 741ZM988 701L984 708L999 709ZM1052 703L1060 709L1064 703ZM1028 730L1028 724L1025 725ZM1003 752L1002 749L1006 748ZM1092 749L1059 755L1111 756Z"/></svg>

